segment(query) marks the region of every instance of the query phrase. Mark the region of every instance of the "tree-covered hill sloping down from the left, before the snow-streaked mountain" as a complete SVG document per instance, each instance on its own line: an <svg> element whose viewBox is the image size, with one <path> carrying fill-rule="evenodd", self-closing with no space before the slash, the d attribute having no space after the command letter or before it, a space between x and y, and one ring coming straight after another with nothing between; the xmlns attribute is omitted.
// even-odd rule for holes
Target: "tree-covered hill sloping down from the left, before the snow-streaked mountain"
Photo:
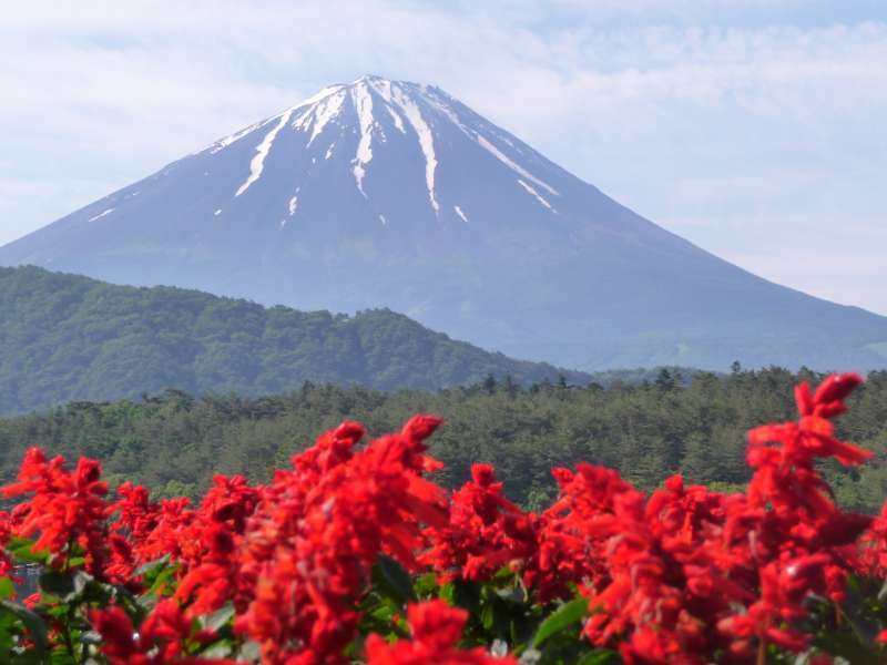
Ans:
<svg viewBox="0 0 887 665"><path fill-rule="evenodd" d="M261 395L312 380L436 389L490 374L518 383L589 379L455 341L385 309L348 317L0 268L0 413L166 388Z"/></svg>

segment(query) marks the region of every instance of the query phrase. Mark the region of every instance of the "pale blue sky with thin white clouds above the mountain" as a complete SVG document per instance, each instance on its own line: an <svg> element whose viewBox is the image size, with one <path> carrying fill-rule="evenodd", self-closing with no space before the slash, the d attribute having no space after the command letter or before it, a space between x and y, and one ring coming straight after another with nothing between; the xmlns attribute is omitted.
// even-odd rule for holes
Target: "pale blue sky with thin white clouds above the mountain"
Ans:
<svg viewBox="0 0 887 665"><path fill-rule="evenodd" d="M12 14L0 244L373 72L442 86L754 273L887 315L885 0L34 0Z"/></svg>

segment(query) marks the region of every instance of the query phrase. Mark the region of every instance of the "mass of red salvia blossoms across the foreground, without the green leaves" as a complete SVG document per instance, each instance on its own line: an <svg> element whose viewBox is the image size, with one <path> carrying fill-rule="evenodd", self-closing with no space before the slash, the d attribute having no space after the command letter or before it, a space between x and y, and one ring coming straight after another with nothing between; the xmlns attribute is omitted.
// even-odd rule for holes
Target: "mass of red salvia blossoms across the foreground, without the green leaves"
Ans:
<svg viewBox="0 0 887 665"><path fill-rule="evenodd" d="M122 607L90 614L114 664L208 662L190 654L215 640L198 628L227 603L235 633L258 644L264 663L347 663L361 656L355 638L380 553L446 581L485 581L509 566L534 604L578 593L591 610L582 635L629 664L745 663L771 645L808 648L810 596L842 601L854 570L887 574L887 504L875 520L843 511L817 468L869 457L832 423L860 380L798 386L796 422L750 432L754 474L733 495L675 475L646 497L587 463L553 470L560 495L539 515L504 497L489 464L475 464L471 481L448 494L425 477L440 466L425 446L440 419L418 416L363 449L364 428L346 422L266 487L217 475L196 508L152 503L130 484L109 505L98 462L71 472L32 449L3 489L27 500L0 513L0 545L34 535L54 565L83 553L93 575L136 592L136 569L170 559L167 587L141 625ZM0 555L0 574L10 564ZM369 635L365 655L376 665L513 663L460 649L466 617L441 601L410 605L411 640ZM58 627L50 640L61 640Z"/></svg>

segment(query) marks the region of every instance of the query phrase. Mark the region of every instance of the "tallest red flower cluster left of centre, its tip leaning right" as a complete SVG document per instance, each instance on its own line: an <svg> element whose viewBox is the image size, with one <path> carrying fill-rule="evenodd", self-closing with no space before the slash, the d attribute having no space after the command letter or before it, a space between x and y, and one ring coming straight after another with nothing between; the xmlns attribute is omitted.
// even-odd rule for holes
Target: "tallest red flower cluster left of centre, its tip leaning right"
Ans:
<svg viewBox="0 0 887 665"><path fill-rule="evenodd" d="M238 571L254 596L236 630L265 662L346 662L378 554L415 567L422 526L448 522L446 494L421 478L422 441L439 424L419 416L354 452L364 430L345 423L275 475L248 520Z"/></svg>

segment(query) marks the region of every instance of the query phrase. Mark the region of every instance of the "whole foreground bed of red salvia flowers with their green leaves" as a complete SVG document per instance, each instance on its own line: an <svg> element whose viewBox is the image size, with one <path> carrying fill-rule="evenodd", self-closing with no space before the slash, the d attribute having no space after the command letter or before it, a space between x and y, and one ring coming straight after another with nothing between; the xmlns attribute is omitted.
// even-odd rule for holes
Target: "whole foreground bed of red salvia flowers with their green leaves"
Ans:
<svg viewBox="0 0 887 665"><path fill-rule="evenodd" d="M887 511L843 512L815 466L869 457L832 424L860 381L802 385L798 421L752 430L744 493L648 497L583 463L540 514L487 464L429 480L431 416L365 446L346 422L196 507L112 498L99 462L31 449L2 489L0 662L887 662ZM26 562L43 572L19 598Z"/></svg>

